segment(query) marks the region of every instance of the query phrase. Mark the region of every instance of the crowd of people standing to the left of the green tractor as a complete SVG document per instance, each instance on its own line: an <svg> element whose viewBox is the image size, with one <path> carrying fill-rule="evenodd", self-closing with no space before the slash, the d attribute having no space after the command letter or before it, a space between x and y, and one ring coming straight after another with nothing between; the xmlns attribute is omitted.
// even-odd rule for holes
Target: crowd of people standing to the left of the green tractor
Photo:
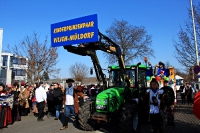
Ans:
<svg viewBox="0 0 200 133"><path fill-rule="evenodd" d="M21 121L21 116L28 116L29 113L33 113L38 122L44 121L44 115L58 120L61 110L64 109L65 121L60 130L67 128L70 112L78 121L78 109L84 99L92 98L100 92L100 85L78 85L73 79L66 80L66 88L59 83L48 84L48 82L25 83L21 86L18 83L7 86L0 84L0 96L13 95L13 123Z"/></svg>

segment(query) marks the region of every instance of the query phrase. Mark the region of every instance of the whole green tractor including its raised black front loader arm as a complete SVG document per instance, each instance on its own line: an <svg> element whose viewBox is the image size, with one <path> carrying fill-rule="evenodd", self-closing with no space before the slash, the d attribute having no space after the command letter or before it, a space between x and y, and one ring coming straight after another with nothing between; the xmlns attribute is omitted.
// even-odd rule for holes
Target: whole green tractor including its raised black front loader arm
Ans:
<svg viewBox="0 0 200 133"><path fill-rule="evenodd" d="M125 66L120 47L99 32L99 41L81 44L81 47L64 46L68 52L90 56L97 80L103 84L103 91L95 99L86 101L79 109L80 127L95 130L101 121L118 121L120 132L131 133L138 129L138 100L146 90L146 70L148 67L138 63ZM101 50L116 55L119 66L109 66L109 78L105 74L96 55ZM142 115L144 116L144 115Z"/></svg>

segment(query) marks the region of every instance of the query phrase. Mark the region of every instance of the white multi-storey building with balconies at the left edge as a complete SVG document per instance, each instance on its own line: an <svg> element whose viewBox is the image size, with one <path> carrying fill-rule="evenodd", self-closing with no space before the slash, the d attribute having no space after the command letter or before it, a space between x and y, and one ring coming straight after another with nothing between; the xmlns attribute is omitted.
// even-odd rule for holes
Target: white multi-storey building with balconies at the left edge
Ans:
<svg viewBox="0 0 200 133"><path fill-rule="evenodd" d="M1 53L1 82L12 84L14 82L27 82L26 71L28 58L16 56L12 53Z"/></svg>

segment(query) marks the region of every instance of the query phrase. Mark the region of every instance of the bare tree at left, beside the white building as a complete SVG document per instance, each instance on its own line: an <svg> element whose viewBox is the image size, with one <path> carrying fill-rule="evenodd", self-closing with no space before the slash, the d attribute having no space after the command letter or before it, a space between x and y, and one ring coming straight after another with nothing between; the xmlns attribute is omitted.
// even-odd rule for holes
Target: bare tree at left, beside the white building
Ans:
<svg viewBox="0 0 200 133"><path fill-rule="evenodd" d="M8 49L19 58L28 58L26 73L29 82L40 81L43 79L43 73L57 77L60 71L55 67L58 58L57 48L48 45L47 39L46 36L44 41L40 42L38 34L34 32L32 36L26 36L13 48L8 45Z"/></svg>

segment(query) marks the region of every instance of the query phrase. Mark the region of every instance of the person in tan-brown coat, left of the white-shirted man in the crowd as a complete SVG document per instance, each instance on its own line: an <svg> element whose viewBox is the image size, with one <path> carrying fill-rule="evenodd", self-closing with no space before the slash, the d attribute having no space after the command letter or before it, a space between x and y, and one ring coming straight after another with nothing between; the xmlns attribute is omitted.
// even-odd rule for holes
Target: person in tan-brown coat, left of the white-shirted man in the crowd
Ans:
<svg viewBox="0 0 200 133"><path fill-rule="evenodd" d="M20 115L27 116L30 112L28 98L30 96L29 86L21 86L19 100L20 100Z"/></svg>

